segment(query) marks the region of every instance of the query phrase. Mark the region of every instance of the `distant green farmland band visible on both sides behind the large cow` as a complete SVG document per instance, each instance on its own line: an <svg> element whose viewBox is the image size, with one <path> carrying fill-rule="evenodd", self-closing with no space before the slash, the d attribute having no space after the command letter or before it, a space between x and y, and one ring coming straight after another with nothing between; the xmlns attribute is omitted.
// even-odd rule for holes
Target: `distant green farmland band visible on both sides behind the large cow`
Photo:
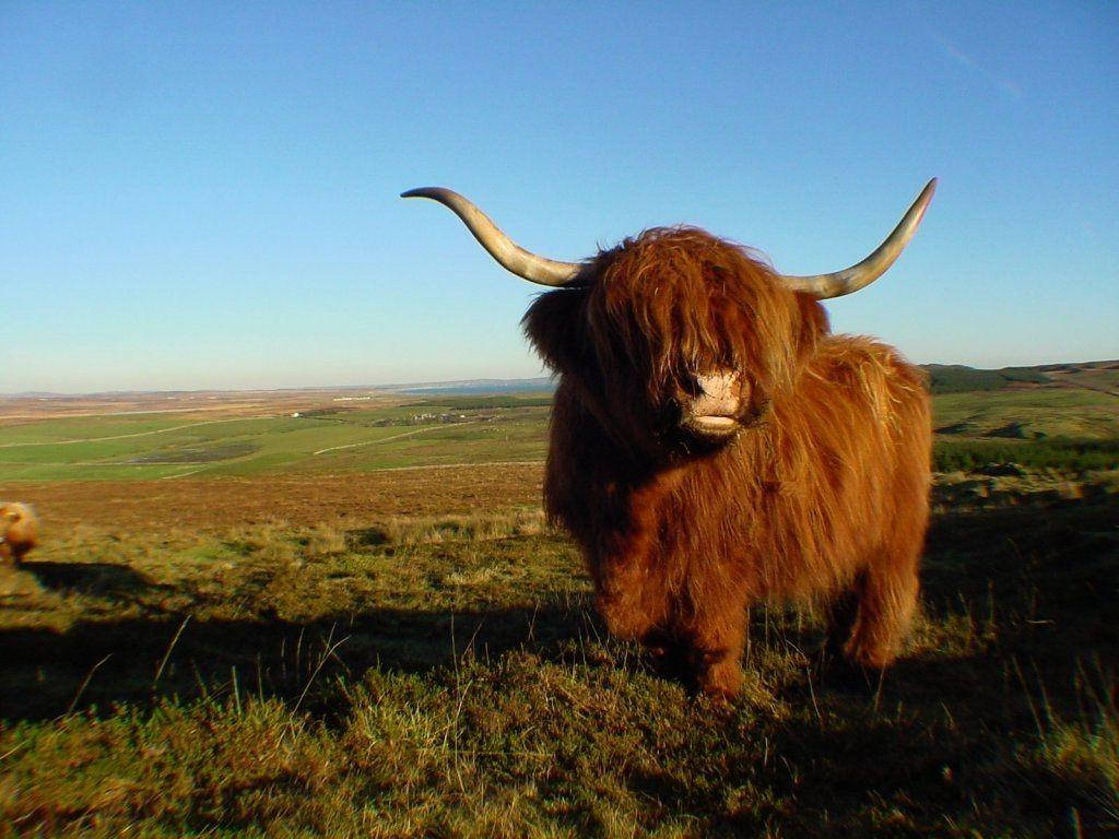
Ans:
<svg viewBox="0 0 1119 839"><path fill-rule="evenodd" d="M410 397L292 416L137 414L0 424L0 481L144 480L369 472L544 459L547 395ZM1060 441L1119 440L1119 397L1087 388L1004 388L933 396L943 470L1066 458ZM1047 446L1024 447L1050 441ZM1053 443L1053 441L1059 441ZM1055 447L1054 447L1055 445ZM1061 449L1061 451L1057 451ZM1119 444L1094 444L1109 468Z"/></svg>

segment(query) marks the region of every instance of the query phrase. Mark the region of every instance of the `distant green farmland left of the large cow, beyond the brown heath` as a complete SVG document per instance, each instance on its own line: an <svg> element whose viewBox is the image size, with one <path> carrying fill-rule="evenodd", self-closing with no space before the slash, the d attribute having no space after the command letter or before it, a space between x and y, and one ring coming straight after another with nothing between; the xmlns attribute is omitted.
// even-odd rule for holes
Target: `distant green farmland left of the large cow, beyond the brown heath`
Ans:
<svg viewBox="0 0 1119 839"><path fill-rule="evenodd" d="M0 425L0 481L370 471L544 456L551 400L446 397L299 416L181 414Z"/></svg>

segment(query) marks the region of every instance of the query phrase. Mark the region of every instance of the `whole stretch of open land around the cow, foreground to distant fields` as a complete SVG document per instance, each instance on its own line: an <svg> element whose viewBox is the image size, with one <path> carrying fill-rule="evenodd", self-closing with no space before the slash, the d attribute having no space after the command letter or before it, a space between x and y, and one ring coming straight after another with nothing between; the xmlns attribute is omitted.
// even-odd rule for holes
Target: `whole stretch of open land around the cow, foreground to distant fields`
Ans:
<svg viewBox="0 0 1119 839"><path fill-rule="evenodd" d="M1113 451L1117 403L938 395L940 456ZM1113 468L1054 446L938 475L905 657L868 679L815 615L760 609L727 710L591 613L539 510L546 418L436 397L0 425L0 494L45 530L0 579L0 832L1116 829Z"/></svg>

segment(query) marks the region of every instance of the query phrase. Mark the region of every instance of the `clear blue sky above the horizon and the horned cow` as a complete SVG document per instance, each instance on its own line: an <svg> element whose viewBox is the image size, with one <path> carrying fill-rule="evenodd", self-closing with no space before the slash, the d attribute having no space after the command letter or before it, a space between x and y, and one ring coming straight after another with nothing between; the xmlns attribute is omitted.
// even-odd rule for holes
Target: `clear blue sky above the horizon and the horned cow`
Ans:
<svg viewBox="0 0 1119 839"><path fill-rule="evenodd" d="M1119 357L1119 6L0 3L0 392L538 375L507 274L706 227L915 361Z"/></svg>

